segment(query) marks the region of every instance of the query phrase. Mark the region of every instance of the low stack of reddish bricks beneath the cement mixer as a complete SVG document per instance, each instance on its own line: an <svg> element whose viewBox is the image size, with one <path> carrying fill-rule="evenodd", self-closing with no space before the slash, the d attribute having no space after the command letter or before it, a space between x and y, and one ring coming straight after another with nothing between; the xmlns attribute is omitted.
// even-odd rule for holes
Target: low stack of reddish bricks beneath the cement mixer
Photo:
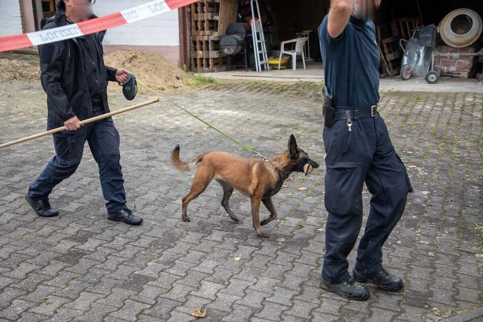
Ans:
<svg viewBox="0 0 483 322"><path fill-rule="evenodd" d="M437 53L473 53L474 48L455 48L450 46L436 46ZM434 66L439 68L442 73L458 73L464 78L468 78L471 69L476 64L475 56L437 56L434 60Z"/></svg>

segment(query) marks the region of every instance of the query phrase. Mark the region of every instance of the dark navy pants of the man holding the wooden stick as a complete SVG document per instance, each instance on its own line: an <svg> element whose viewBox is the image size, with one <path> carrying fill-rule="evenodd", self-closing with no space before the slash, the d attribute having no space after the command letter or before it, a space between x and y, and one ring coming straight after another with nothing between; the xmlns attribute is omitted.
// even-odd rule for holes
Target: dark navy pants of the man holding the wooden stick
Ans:
<svg viewBox="0 0 483 322"><path fill-rule="evenodd" d="M96 112L94 116L102 112ZM52 189L69 178L79 166L87 141L95 161L99 165L99 176L106 207L109 213L126 206L124 180L122 178L119 152L119 133L112 118L88 123L77 131L62 131L53 134L56 155L50 160L37 180L30 185L28 196L34 200L46 199Z"/></svg>

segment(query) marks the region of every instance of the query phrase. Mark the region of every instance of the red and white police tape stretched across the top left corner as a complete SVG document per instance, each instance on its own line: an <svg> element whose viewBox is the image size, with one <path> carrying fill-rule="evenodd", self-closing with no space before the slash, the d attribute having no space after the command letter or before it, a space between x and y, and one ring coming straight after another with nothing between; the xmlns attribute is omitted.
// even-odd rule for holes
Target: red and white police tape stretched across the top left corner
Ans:
<svg viewBox="0 0 483 322"><path fill-rule="evenodd" d="M147 19L159 14L190 5L198 0L156 0L104 17L70 24L67 26L36 31L35 33L0 37L0 52L90 35L126 23Z"/></svg>

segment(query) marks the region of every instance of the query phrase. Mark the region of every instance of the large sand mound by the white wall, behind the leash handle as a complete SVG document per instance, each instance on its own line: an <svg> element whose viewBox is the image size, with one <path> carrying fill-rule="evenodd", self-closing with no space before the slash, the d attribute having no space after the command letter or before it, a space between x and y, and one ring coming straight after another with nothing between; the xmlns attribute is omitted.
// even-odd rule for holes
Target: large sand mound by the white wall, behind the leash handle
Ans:
<svg viewBox="0 0 483 322"><path fill-rule="evenodd" d="M104 57L106 66L125 68L133 73L144 84L156 90L182 90L188 87L187 83L195 77L185 73L171 61L158 53L141 50L118 50ZM112 90L119 90L113 88ZM147 92L149 89L138 82L138 90Z"/></svg>

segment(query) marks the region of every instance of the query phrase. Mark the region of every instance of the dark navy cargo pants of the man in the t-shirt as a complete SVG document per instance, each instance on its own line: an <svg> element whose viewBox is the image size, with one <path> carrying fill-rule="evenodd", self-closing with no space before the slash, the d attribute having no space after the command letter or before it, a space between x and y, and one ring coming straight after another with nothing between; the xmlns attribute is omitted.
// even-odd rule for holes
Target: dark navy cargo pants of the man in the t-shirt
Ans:
<svg viewBox="0 0 483 322"><path fill-rule="evenodd" d="M326 150L326 254L322 278L339 283L349 277L347 255L362 225L364 182L372 194L366 229L357 250L356 270L366 274L382 268L382 245L396 226L412 191L406 168L394 150L379 115L324 127Z"/></svg>

